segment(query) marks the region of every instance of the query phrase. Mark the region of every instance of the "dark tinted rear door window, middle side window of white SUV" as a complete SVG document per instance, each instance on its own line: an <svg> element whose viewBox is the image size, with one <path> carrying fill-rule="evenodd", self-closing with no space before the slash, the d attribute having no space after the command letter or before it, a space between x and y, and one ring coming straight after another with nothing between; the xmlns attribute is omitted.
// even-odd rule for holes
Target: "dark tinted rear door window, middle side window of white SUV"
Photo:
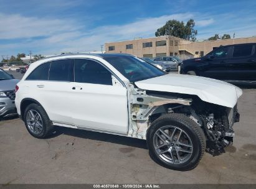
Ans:
<svg viewBox="0 0 256 189"><path fill-rule="evenodd" d="M56 60L50 64L49 80L73 81L73 60Z"/></svg>

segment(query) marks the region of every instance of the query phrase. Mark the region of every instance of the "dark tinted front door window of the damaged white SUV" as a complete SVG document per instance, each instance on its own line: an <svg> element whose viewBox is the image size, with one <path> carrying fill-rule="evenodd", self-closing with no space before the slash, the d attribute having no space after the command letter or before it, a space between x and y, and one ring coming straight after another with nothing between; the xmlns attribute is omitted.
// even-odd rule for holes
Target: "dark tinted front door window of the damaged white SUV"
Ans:
<svg viewBox="0 0 256 189"><path fill-rule="evenodd" d="M107 68L87 59L75 59L75 82L112 85L112 77Z"/></svg>

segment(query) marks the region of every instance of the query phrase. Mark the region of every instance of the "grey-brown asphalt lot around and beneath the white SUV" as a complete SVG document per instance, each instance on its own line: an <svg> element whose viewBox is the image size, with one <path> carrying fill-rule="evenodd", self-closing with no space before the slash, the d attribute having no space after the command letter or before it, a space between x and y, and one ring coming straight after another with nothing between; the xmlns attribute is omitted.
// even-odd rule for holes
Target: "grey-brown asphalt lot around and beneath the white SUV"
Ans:
<svg viewBox="0 0 256 189"><path fill-rule="evenodd" d="M243 91L234 145L188 172L156 164L140 139L64 127L36 139L20 119L0 121L0 183L256 183L256 90Z"/></svg>

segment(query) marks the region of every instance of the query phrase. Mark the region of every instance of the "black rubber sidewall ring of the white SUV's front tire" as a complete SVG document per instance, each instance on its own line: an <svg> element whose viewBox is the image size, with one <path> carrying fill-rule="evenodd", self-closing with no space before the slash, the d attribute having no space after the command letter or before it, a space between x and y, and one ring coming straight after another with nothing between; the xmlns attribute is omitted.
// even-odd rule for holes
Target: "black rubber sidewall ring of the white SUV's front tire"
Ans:
<svg viewBox="0 0 256 189"><path fill-rule="evenodd" d="M190 137L192 145L193 145L193 152L189 160L187 162L184 162L183 164L171 164L168 162L165 162L163 159L161 159L158 154L156 153L156 150L154 150L154 133L163 126L176 126L180 129L183 129L187 133L187 135ZM181 121L176 121L171 118L165 118L161 121L153 122L153 125L151 126L151 129L148 132L149 140L147 140L149 152L159 164L163 165L166 168L171 168L173 170L187 170L188 167L193 167L195 164L197 164L197 161L199 160L201 156L201 143L199 142L199 137L197 136L196 132L192 129L192 127L186 126L185 123ZM148 139L147 137L147 139Z"/></svg>

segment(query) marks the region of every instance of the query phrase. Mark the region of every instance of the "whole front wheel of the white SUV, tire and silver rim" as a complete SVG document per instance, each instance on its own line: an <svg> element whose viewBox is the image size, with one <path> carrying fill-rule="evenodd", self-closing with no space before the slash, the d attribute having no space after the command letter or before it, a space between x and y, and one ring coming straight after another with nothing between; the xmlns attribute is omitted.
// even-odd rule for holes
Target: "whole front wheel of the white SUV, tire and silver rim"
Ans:
<svg viewBox="0 0 256 189"><path fill-rule="evenodd" d="M164 145L164 140L161 139L166 141L168 139L160 129L173 141L169 140ZM146 139L151 158L163 167L173 170L186 171L195 168L206 150L206 138L201 127L184 114L173 113L160 116L152 122ZM161 144L156 144L158 142ZM164 153L161 154L162 152ZM183 159L182 156L184 156Z"/></svg>

